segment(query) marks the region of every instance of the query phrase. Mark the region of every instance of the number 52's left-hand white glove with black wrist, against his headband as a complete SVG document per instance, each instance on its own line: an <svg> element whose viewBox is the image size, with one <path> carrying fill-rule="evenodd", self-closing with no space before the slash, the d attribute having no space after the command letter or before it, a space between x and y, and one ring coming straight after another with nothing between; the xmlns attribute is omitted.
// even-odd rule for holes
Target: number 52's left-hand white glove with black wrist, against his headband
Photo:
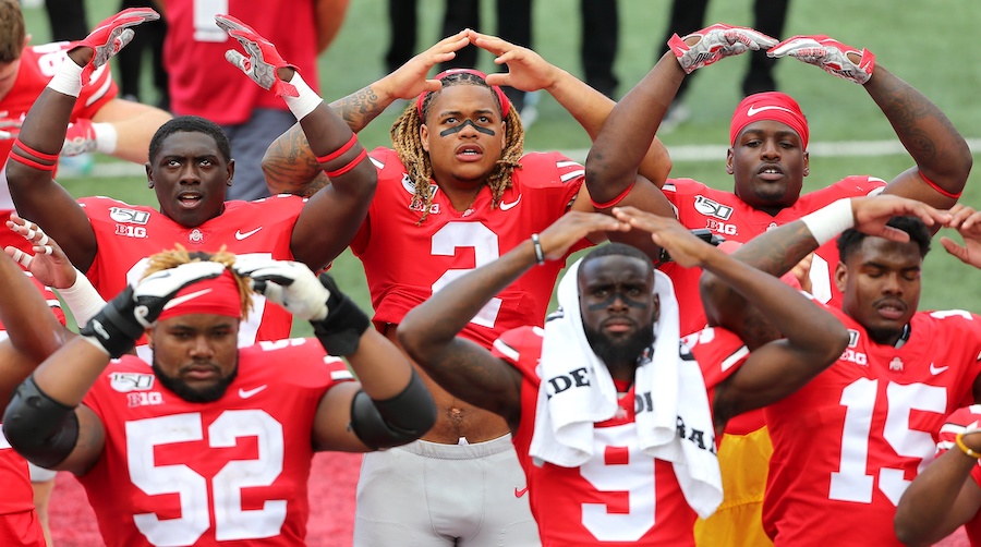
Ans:
<svg viewBox="0 0 981 547"><path fill-rule="evenodd" d="M225 266L195 262L157 271L134 288L125 289L85 324L82 336L101 344L106 353L119 358L133 349L145 329L153 326L164 307L184 287L220 276Z"/></svg>

